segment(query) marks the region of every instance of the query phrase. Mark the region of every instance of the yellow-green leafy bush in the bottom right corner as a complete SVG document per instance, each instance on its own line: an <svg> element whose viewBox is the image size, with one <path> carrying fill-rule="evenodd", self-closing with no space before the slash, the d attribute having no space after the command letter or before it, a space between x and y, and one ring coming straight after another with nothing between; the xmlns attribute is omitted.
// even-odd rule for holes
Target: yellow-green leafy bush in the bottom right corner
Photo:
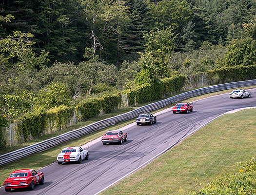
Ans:
<svg viewBox="0 0 256 195"><path fill-rule="evenodd" d="M219 176L205 188L188 195L255 195L256 156L241 165L237 172Z"/></svg>

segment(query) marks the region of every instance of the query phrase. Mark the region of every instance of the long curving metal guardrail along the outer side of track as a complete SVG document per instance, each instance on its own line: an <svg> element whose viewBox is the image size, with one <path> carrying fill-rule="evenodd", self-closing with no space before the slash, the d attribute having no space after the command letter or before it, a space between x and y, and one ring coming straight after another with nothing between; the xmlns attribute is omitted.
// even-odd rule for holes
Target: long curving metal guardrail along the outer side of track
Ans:
<svg viewBox="0 0 256 195"><path fill-rule="evenodd" d="M256 79L214 85L214 86L210 86L210 87L204 87L204 88L192 90L189 92L184 92L182 94L173 96L171 98L166 98L164 100L161 100L161 101L158 101L155 103L151 103L146 106L142 106L142 107L140 107L136 110L130 111L128 113L118 115L116 117L103 119L98 122L87 125L85 127L82 127L80 129L76 129L76 130L67 132L65 134L59 135L57 137L53 137L53 138L41 141L39 143L21 148L19 150L1 155L0 156L0 165L7 164L9 162L20 159L22 157L29 156L33 153L47 150L56 145L59 145L62 142L65 142L67 140L75 139L75 138L81 137L85 134L97 131L99 129L102 129L102 128L105 128L105 127L108 127L111 125L115 125L116 123L123 121L124 118L126 120L132 119L134 117L137 117L140 113L151 112L153 110L157 110L157 109L165 107L171 103L174 103L174 102L186 99L186 98L191 98L191 97L195 97L198 95L207 94L207 93L211 93L211 92L217 92L217 91L226 90L226 89L245 87L245 86L253 86L253 85L256 85Z"/></svg>

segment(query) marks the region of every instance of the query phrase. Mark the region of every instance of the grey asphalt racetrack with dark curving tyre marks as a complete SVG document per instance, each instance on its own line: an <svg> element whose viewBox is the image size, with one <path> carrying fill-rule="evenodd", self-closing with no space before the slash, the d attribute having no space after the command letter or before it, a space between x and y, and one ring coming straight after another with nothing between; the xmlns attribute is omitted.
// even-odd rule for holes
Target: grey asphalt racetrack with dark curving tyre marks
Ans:
<svg viewBox="0 0 256 195"><path fill-rule="evenodd" d="M16 195L95 195L213 118L234 109L256 106L256 89L248 91L252 93L251 98L231 99L223 94L197 100L191 103L193 113L163 111L152 126L137 126L134 122L123 130L128 133L128 141L122 145L103 146L98 141L86 148L89 160L81 164L53 163L40 170L45 176L44 185L36 185L33 191L12 192ZM1 187L0 194L8 192Z"/></svg>

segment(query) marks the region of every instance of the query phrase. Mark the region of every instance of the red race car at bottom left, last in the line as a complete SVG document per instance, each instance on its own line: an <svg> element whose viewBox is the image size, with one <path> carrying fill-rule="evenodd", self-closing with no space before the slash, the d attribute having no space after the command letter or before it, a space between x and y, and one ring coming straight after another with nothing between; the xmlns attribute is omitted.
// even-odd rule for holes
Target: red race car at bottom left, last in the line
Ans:
<svg viewBox="0 0 256 195"><path fill-rule="evenodd" d="M44 184L42 172L37 173L34 169L21 169L14 171L5 181L3 187L6 192L11 192L12 188L29 188L34 190L36 184Z"/></svg>

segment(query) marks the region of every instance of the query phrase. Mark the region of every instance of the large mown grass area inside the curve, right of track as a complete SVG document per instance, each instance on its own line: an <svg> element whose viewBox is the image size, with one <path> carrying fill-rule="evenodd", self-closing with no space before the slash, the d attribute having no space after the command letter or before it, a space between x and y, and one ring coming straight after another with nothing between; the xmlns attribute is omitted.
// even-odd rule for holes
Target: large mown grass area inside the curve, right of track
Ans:
<svg viewBox="0 0 256 195"><path fill-rule="evenodd" d="M101 195L178 195L256 154L256 109L217 118Z"/></svg>

